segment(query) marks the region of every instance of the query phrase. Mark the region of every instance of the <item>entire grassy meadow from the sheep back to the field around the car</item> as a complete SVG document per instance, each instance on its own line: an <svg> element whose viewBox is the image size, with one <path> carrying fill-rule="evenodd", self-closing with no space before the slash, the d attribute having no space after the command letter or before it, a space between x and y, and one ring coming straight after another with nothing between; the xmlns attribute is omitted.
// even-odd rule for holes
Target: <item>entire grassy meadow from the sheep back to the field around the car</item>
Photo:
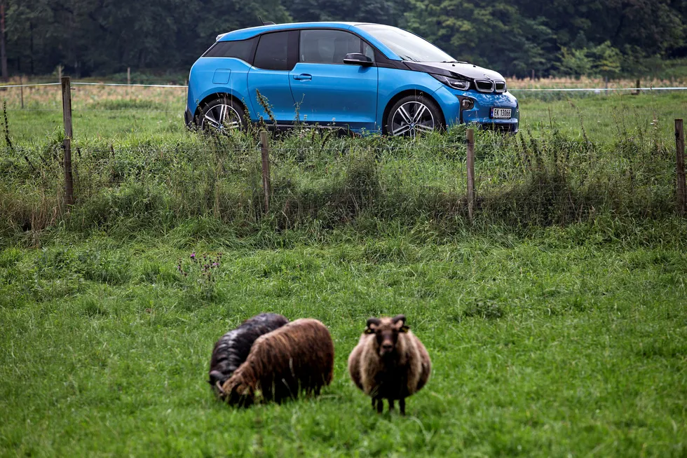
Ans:
<svg viewBox="0 0 687 458"><path fill-rule="evenodd" d="M470 221L464 127L273 136L265 214L257 131L188 132L183 90L136 88L74 91L67 211L49 90L7 93L0 455L686 456L681 92L522 97L520 134L477 132ZM213 281L191 253L222 253ZM268 311L329 327L334 382L217 403L212 345ZM346 373L397 313L434 365L406 417Z"/></svg>

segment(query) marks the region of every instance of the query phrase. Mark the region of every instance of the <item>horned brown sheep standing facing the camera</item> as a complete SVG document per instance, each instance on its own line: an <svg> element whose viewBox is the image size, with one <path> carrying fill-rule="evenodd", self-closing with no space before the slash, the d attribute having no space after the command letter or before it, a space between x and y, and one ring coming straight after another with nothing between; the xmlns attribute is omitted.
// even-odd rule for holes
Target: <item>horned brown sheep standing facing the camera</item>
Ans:
<svg viewBox="0 0 687 458"><path fill-rule="evenodd" d="M372 408L389 410L398 399L405 415L405 398L429 380L432 363L427 349L405 323L404 315L370 318L358 345L348 356L348 373L355 385L372 397Z"/></svg>

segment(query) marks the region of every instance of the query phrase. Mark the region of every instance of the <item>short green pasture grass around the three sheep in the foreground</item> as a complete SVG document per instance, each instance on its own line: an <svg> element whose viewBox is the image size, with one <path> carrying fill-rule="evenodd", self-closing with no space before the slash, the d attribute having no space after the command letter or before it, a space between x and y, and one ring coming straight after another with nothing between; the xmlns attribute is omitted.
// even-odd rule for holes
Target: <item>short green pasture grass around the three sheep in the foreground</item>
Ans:
<svg viewBox="0 0 687 458"><path fill-rule="evenodd" d="M7 248L0 454L684 456L687 247L672 234L687 227L625 229L57 233ZM210 296L175 272L191 251L228 261ZM283 405L217 403L212 345L266 311L329 326L334 382ZM407 417L373 413L346 374L365 319L396 313L434 365Z"/></svg>

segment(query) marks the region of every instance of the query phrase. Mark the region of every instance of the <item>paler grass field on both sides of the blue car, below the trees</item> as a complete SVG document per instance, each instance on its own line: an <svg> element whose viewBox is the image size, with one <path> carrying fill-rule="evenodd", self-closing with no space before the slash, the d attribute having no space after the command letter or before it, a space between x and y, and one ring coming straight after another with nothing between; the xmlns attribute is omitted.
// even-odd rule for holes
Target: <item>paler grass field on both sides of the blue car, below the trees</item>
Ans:
<svg viewBox="0 0 687 458"><path fill-rule="evenodd" d="M58 87L25 95L22 111L16 90L9 89L8 122L15 144L40 144L46 135L62 132ZM674 118L687 116L687 92L649 92L639 96L578 92L524 92L520 101L522 130L553 125L564 132L605 141L620 130L657 129L671 139ZM74 137L79 141L139 141L151 135L170 141L188 136L184 128L185 92L179 89L98 88L74 92Z"/></svg>

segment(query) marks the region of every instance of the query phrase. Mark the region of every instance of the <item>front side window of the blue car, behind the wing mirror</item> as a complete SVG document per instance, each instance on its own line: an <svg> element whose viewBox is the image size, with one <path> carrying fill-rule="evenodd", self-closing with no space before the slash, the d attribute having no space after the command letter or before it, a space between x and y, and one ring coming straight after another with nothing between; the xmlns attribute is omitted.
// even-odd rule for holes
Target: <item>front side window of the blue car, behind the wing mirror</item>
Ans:
<svg viewBox="0 0 687 458"><path fill-rule="evenodd" d="M367 43L365 43L366 46ZM343 64L348 53L360 53L362 40L343 30L301 30L299 62ZM374 50L370 50L374 60Z"/></svg>

